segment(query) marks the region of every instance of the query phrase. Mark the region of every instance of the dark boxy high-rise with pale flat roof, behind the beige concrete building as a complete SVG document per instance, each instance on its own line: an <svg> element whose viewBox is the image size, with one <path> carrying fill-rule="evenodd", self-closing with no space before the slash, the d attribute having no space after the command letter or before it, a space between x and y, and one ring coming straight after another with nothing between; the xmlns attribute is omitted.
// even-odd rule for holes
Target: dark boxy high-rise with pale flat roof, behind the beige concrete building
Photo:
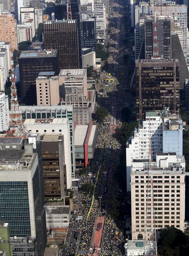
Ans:
<svg viewBox="0 0 189 256"><path fill-rule="evenodd" d="M48 48L46 48L48 49ZM19 56L21 100L36 105L36 78L40 72L58 74L57 50L22 51Z"/></svg>

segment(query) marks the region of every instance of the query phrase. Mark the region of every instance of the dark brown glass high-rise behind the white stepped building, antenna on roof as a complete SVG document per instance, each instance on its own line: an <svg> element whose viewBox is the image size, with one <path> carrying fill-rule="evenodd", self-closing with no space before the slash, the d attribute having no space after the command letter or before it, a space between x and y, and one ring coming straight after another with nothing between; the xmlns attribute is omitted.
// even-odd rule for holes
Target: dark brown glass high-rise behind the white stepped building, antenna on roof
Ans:
<svg viewBox="0 0 189 256"><path fill-rule="evenodd" d="M171 113L179 109L179 62L177 59L139 59L136 69L136 119L147 111Z"/></svg>

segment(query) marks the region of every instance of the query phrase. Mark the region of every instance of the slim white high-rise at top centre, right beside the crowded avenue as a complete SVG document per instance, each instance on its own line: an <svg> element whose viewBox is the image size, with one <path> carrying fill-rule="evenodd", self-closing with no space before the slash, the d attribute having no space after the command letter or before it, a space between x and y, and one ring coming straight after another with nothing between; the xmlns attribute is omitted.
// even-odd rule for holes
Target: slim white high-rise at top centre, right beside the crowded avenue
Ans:
<svg viewBox="0 0 189 256"><path fill-rule="evenodd" d="M103 42L106 38L106 7L103 1L95 1L94 12L96 16L96 40Z"/></svg>

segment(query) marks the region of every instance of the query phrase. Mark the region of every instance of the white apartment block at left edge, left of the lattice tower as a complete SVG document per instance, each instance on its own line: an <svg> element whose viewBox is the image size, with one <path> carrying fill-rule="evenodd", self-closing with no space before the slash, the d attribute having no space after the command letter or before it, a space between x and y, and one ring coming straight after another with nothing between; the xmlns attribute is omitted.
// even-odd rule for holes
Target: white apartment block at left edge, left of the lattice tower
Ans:
<svg viewBox="0 0 189 256"><path fill-rule="evenodd" d="M9 127L8 95L0 92L0 132L7 131Z"/></svg>

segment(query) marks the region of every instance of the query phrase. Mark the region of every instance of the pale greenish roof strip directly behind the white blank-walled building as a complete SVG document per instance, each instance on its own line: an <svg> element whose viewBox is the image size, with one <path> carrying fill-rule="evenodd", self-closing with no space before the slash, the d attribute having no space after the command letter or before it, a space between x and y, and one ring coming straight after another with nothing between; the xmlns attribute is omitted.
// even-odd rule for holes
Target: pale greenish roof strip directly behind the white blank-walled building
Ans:
<svg viewBox="0 0 189 256"><path fill-rule="evenodd" d="M55 110L56 112L61 112L61 110L63 112L73 111L73 106L72 105L52 105L52 106L48 106L48 105L38 105L38 106L20 106L20 110L23 111L31 111L31 112L36 112L36 111L52 111Z"/></svg>

